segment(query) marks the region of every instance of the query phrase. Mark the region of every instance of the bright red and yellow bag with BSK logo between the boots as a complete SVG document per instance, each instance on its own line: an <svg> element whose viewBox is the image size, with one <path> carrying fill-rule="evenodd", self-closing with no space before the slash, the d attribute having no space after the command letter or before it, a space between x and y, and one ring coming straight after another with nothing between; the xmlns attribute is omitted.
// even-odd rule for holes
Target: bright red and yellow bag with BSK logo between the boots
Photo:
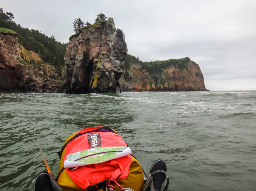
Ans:
<svg viewBox="0 0 256 191"><path fill-rule="evenodd" d="M102 153L92 154L102 148L106 149L107 151L104 150ZM129 150L129 148L127 148L127 144L121 138L121 136L118 135L115 130L109 127L87 128L71 135L66 140L62 150L59 152L61 161L59 166L59 174L57 177L58 183L61 186L66 187L65 191L96 191L106 186L106 181L114 179L117 180L117 182L120 182L120 185L121 183L126 182L126 184L128 183L127 186L129 187L130 185L133 185L134 188L141 189L143 186L142 168L137 160L130 155L125 155L121 158L113 158L111 160L106 160L99 163L95 162L96 164L85 162L87 165L79 166L82 164L82 162L79 161L82 160L83 162L84 160L94 162L93 158L96 157L96 155L100 156L101 154L103 156L103 153L107 153L107 156L109 157L111 154L116 152L122 152L116 150L112 151L111 149L113 148ZM87 156L73 160L76 155L81 156L82 152L86 153ZM101 150L97 152L101 152ZM104 160L104 158L102 160ZM71 167L69 166L64 168L65 165L71 165ZM77 165L79 167L76 167ZM132 178L136 177L136 179L131 180L131 177L129 179L129 176ZM127 180L130 181L130 183L127 182Z"/></svg>

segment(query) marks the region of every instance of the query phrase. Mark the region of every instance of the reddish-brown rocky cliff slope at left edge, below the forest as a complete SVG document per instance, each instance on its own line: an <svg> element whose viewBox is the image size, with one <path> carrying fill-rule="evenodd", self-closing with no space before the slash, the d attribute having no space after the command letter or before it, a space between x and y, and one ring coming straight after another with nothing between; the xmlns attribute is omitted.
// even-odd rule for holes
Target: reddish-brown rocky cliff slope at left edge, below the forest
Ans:
<svg viewBox="0 0 256 191"><path fill-rule="evenodd" d="M15 32L0 32L0 91L62 92L57 78L38 54L19 46Z"/></svg>

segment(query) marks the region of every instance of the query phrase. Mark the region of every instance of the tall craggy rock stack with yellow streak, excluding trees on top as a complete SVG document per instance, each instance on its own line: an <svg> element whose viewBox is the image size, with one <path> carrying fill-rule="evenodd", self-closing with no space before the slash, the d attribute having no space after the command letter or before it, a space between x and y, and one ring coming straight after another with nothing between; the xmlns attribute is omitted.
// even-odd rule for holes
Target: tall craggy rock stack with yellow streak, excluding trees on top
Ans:
<svg viewBox="0 0 256 191"><path fill-rule="evenodd" d="M120 92L127 46L114 21L95 23L71 36L64 57L64 88L69 93Z"/></svg>

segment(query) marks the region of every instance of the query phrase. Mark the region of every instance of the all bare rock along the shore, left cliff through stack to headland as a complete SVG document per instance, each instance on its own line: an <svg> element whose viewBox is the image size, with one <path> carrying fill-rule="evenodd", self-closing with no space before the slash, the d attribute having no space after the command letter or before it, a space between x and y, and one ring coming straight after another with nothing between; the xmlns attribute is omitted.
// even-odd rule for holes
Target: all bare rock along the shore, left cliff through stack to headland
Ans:
<svg viewBox="0 0 256 191"><path fill-rule="evenodd" d="M122 91L207 91L198 64L174 65L149 73L140 64L124 70L125 34L112 18L69 38L62 74L40 56L19 45L16 33L0 33L0 92L121 93Z"/></svg>

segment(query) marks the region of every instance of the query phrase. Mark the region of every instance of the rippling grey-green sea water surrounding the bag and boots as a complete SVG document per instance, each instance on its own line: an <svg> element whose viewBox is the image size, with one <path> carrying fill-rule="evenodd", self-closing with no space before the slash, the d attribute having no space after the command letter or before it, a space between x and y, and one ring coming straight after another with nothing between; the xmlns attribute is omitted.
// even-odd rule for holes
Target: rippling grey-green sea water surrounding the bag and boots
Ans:
<svg viewBox="0 0 256 191"><path fill-rule="evenodd" d="M169 191L256 190L256 91L0 94L0 190L55 176L66 138L108 126L148 173L167 164Z"/></svg>

